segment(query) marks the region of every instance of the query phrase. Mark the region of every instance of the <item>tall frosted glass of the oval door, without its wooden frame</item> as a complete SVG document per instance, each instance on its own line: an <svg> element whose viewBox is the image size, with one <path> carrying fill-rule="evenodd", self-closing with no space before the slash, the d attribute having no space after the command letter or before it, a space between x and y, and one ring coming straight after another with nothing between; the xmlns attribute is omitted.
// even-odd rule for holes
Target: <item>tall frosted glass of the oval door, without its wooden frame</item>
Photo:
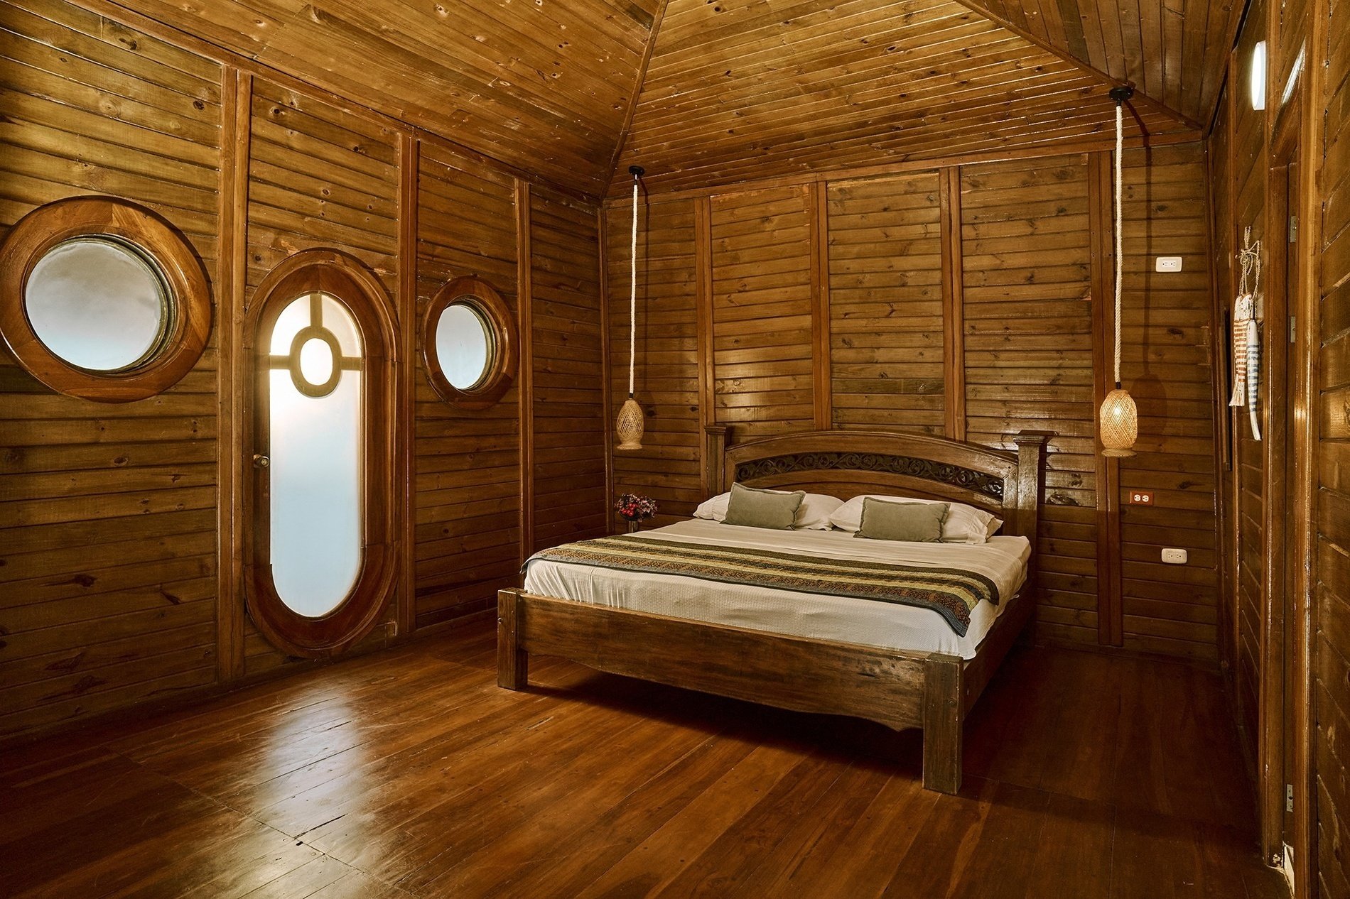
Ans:
<svg viewBox="0 0 1350 899"><path fill-rule="evenodd" d="M309 298L296 300L278 324L301 308L309 324ZM338 304L324 309L324 327L355 329ZM298 328L297 328L298 331ZM294 332L293 332L294 333ZM332 359L327 344L321 355ZM315 378L325 381L325 378ZM293 611L317 617L332 611L356 583L362 563L362 373L346 370L332 393L306 397L286 369L269 371L271 444L271 578L277 595Z"/></svg>

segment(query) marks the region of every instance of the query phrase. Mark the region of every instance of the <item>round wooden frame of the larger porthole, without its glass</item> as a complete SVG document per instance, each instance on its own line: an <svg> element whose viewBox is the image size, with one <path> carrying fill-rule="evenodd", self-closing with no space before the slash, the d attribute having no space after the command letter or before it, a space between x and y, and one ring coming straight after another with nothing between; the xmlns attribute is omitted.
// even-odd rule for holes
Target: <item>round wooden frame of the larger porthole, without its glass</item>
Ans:
<svg viewBox="0 0 1350 899"><path fill-rule="evenodd" d="M159 347L116 371L74 366L47 348L27 313L28 278L47 252L78 238L111 238L151 261L169 290ZM0 336L19 364L58 393L132 402L163 393L197 364L211 336L211 282L196 250L155 212L117 197L66 197L20 219L0 243Z"/></svg>

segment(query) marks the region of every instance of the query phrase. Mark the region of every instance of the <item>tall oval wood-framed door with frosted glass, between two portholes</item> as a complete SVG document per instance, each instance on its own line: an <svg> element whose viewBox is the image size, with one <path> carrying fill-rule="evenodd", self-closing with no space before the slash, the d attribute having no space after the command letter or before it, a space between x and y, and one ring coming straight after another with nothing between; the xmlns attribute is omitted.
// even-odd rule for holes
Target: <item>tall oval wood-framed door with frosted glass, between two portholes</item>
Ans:
<svg viewBox="0 0 1350 899"><path fill-rule="evenodd" d="M387 300L356 259L310 250L267 275L250 319L248 610L286 652L328 656L393 583Z"/></svg>

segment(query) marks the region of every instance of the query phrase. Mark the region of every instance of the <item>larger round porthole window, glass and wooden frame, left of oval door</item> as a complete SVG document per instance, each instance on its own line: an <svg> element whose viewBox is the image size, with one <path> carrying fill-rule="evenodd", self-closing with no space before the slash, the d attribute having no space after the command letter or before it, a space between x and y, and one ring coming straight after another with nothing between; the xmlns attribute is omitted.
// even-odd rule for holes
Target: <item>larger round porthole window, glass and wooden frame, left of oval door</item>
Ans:
<svg viewBox="0 0 1350 899"><path fill-rule="evenodd" d="M53 390L101 402L177 383L211 332L211 289L188 240L126 200L73 197L20 219L0 246L0 335Z"/></svg>

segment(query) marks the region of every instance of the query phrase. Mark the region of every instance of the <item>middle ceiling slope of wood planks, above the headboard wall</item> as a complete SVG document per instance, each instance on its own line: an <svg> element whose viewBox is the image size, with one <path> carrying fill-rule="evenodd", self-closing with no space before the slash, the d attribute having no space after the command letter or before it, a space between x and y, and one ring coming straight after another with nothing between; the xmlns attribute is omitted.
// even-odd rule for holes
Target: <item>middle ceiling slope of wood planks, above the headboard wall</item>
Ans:
<svg viewBox="0 0 1350 899"><path fill-rule="evenodd" d="M613 189L1102 138L1108 80L950 0L670 0ZM1150 135L1197 130L1148 99Z"/></svg>

